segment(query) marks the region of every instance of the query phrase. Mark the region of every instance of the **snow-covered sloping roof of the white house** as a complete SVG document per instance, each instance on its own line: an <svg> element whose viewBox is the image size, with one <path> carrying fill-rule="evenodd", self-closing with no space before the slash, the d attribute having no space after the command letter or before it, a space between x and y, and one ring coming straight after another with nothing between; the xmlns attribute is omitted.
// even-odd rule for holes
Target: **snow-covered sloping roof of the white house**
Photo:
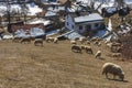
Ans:
<svg viewBox="0 0 132 88"><path fill-rule="evenodd" d="M90 13L86 15L80 15L74 18L75 23L82 23L82 22L94 22L94 21L103 21L103 18L98 13Z"/></svg>

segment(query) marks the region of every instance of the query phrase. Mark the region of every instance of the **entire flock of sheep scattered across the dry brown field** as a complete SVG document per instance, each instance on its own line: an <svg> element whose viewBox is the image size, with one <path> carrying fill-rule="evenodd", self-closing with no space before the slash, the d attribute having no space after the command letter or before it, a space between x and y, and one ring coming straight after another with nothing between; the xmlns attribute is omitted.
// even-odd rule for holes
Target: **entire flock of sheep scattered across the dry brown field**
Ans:
<svg viewBox="0 0 132 88"><path fill-rule="evenodd" d="M34 41L34 45L37 46L37 45L41 45L43 46L43 38L31 38L31 37L14 37L12 38L12 42L15 42L15 43L28 43L30 44L32 41ZM58 38L57 37L46 37L45 41L47 43L58 43ZM88 54L91 54L94 55L95 54L95 57L96 58L100 58L101 57L101 50L98 50L96 53L94 53L94 50L91 47L91 44L98 46L99 48L101 47L101 43L102 43L103 40L99 38L99 37L92 37L92 38L89 38L89 37L79 37L79 38L75 38L75 40L70 40L70 50L75 53L81 53L82 51L85 51L86 53ZM78 44L78 42L80 43L80 45ZM120 43L112 43L112 42L107 42L107 41L103 41L105 44L109 47L109 48L112 48L112 45L117 45L118 50L121 48L120 46ZM120 56L121 53L112 53L111 54L113 57L116 56ZM119 76L119 79L120 80L123 80L124 79L124 73L122 70L122 68L117 65L117 64L113 64L113 63L106 63L103 66L102 66L102 75L106 75L107 78L108 77L108 74L112 74L113 75L113 78L116 78L116 76Z"/></svg>

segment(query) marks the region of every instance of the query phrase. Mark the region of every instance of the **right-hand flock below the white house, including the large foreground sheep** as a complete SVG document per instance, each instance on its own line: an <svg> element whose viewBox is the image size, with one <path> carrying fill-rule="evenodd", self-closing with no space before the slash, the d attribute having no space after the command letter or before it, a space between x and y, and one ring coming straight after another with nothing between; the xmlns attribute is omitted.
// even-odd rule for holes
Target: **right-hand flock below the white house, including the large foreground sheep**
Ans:
<svg viewBox="0 0 132 88"><path fill-rule="evenodd" d="M80 42L80 45L78 44L78 41ZM118 43L118 42L108 42L108 41L101 40L99 37L92 37L92 38L80 37L80 38L72 40L70 41L72 51L75 52L75 53L81 53L82 50L85 50L86 53L94 54L94 50L91 47L91 44L92 44L92 45L96 45L96 46L99 47L99 50L95 54L95 57L96 58L100 58L101 55L102 55L102 51L100 50L102 42L106 44L106 46L108 48L110 48L112 57L119 57L119 56L121 56L121 48L122 48L121 43ZM116 52L112 53L113 50L116 50ZM121 66L119 66L117 64L106 63L102 66L102 75L106 75L106 77L109 78L108 74L112 74L113 75L113 79L116 78L116 76L119 76L120 80L124 79L124 73L123 73Z"/></svg>

